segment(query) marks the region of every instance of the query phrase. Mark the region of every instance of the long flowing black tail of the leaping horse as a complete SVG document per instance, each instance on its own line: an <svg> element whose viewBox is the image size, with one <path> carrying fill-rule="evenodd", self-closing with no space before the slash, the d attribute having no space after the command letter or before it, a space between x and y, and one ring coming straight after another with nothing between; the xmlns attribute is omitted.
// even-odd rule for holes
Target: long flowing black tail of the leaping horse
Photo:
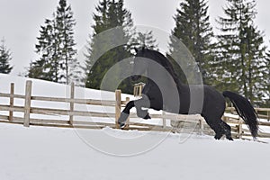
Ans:
<svg viewBox="0 0 270 180"><path fill-rule="evenodd" d="M231 103L233 103L238 115L247 124L253 138L256 138L258 130L257 112L252 104L245 97L230 91L224 91L223 96L228 97Z"/></svg>

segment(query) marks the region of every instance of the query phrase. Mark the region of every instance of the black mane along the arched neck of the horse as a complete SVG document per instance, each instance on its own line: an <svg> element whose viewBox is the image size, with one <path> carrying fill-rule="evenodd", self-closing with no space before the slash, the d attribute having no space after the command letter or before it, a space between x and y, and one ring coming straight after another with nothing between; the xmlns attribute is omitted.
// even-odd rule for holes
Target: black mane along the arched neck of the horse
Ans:
<svg viewBox="0 0 270 180"><path fill-rule="evenodd" d="M175 84L179 86L180 81L177 77L173 65L170 63L170 61L160 52L157 50L147 49L148 53L151 54L153 57L153 60L155 60L157 63L159 63L162 67L165 67L167 72L174 78Z"/></svg>

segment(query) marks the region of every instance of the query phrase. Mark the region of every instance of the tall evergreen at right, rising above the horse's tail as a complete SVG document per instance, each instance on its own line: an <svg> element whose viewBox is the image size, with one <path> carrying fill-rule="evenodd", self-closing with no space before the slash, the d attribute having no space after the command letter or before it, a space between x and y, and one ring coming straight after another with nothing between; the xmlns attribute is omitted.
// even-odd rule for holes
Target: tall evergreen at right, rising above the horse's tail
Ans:
<svg viewBox="0 0 270 180"><path fill-rule="evenodd" d="M215 63L220 89L230 89L258 103L265 88L266 46L254 24L254 0L227 0L225 17L220 17L219 58Z"/></svg>

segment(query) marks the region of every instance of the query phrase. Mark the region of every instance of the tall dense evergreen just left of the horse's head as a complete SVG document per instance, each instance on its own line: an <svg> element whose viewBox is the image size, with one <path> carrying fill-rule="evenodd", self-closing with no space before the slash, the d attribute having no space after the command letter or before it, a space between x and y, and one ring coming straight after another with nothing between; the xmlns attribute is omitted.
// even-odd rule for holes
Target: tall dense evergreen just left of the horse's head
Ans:
<svg viewBox="0 0 270 180"><path fill-rule="evenodd" d="M130 58L130 46L128 44L108 49L108 44L112 42L126 41L129 42L132 36L133 22L131 14L123 7L123 0L119 1L101 1L95 8L94 25L92 26L94 32L90 37L87 54L85 55L85 86L95 89L100 89L103 76L107 71L117 62L124 58ZM103 31L115 28L117 31L111 36L106 36ZM117 43L115 43L117 44ZM105 52L101 55L102 52ZM116 82L121 76L121 69L115 71L115 76L111 79ZM121 83L119 88L123 92L130 92L132 86L130 80L127 79Z"/></svg>

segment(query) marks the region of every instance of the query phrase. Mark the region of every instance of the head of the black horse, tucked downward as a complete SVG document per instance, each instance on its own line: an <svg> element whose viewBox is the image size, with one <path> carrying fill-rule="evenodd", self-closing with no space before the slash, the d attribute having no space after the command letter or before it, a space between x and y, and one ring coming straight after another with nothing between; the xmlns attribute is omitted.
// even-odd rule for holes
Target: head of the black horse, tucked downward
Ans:
<svg viewBox="0 0 270 180"><path fill-rule="evenodd" d="M135 51L133 76L131 76L133 81L137 81L141 75L146 75L148 69L148 49L135 49Z"/></svg>

